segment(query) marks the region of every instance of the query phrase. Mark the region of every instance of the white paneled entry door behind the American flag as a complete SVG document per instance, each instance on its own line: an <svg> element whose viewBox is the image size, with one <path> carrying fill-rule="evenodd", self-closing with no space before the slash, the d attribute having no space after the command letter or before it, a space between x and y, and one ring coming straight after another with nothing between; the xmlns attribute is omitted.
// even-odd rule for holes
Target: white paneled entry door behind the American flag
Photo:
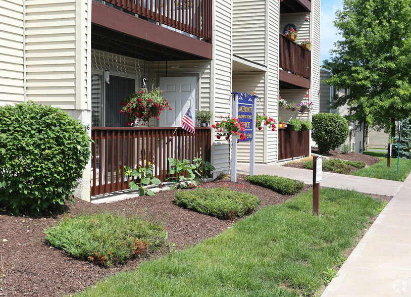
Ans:
<svg viewBox="0 0 411 297"><path fill-rule="evenodd" d="M197 103L197 77L160 77L160 89L173 110L166 109L160 115L160 127L180 127L181 119L191 105L194 125Z"/></svg>

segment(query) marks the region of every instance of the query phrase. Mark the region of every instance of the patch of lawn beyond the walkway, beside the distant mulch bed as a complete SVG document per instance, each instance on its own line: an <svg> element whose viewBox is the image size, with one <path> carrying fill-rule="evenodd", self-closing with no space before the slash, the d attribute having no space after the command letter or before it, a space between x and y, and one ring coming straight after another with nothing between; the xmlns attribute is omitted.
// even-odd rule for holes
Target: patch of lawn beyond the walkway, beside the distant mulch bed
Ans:
<svg viewBox="0 0 411 297"><path fill-rule="evenodd" d="M351 173L356 176L366 176L372 178L389 179L396 181L404 181L411 173L411 160L399 159L399 167L397 174L397 159L391 158L391 167L387 167L387 158L383 157L383 152L364 152L366 155L381 158L382 160L369 168L363 168Z"/></svg>

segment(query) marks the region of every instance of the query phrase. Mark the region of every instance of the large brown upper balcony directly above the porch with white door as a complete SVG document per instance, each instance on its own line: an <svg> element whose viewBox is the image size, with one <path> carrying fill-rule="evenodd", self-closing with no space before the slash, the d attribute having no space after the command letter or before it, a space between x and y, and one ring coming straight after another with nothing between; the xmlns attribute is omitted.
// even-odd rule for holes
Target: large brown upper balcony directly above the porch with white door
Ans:
<svg viewBox="0 0 411 297"><path fill-rule="evenodd" d="M135 58L143 58L139 48L149 49L144 58L151 61L212 58L212 0L94 0L92 6L93 48Z"/></svg>

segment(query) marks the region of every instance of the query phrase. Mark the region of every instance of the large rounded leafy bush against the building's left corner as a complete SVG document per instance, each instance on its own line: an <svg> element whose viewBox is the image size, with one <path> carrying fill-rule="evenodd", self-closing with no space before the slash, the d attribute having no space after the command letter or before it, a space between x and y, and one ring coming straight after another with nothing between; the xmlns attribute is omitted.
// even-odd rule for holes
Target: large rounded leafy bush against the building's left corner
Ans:
<svg viewBox="0 0 411 297"><path fill-rule="evenodd" d="M69 114L32 103L0 107L0 206L41 215L72 195L90 138Z"/></svg>

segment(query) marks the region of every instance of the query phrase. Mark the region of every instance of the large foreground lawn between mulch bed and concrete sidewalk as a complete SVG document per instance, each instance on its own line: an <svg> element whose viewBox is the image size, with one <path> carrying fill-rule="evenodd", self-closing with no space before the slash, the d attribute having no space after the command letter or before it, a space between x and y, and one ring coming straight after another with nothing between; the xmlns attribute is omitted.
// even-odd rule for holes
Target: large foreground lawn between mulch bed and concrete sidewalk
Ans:
<svg viewBox="0 0 411 297"><path fill-rule="evenodd" d="M318 217L312 215L312 192L300 193L77 296L312 295L332 279L343 251L384 205L354 191L322 188Z"/></svg>

